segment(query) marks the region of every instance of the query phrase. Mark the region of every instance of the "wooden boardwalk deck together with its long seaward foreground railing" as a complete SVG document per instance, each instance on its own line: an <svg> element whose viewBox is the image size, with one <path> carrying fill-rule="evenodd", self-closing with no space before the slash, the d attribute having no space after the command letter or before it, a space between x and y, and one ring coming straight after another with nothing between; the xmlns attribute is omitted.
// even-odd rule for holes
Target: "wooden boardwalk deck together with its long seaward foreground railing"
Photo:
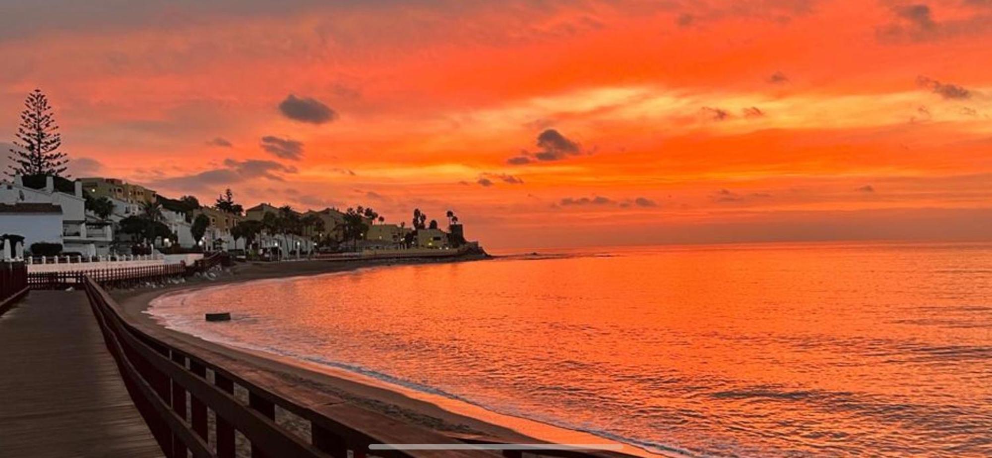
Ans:
<svg viewBox="0 0 992 458"><path fill-rule="evenodd" d="M123 320L91 279L73 287L32 290L0 315L0 456L233 458L250 450L253 457L361 458L376 443L458 442L273 384L238 362L217 366ZM278 423L277 412L294 424Z"/></svg>

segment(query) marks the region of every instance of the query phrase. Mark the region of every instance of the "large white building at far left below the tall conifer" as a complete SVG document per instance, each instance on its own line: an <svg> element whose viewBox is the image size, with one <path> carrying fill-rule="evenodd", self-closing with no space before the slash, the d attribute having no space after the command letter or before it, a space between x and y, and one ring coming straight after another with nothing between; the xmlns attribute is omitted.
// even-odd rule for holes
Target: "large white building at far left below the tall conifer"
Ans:
<svg viewBox="0 0 992 458"><path fill-rule="evenodd" d="M25 238L25 247L34 243L62 244L62 251L84 256L103 255L113 241L112 227L86 216L85 199L79 181L59 178L67 189L57 190L53 176L46 176L45 187L24 185L21 176L13 182L0 181L0 230Z"/></svg>

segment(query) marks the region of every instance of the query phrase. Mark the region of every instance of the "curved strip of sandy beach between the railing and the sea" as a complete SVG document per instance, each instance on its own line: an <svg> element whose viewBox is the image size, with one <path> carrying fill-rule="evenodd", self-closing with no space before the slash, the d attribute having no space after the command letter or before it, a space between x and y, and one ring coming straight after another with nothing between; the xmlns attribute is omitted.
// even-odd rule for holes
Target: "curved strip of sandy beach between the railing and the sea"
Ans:
<svg viewBox="0 0 992 458"><path fill-rule="evenodd" d="M236 344L208 341L166 327L149 313L155 299L173 294L186 294L212 286L232 286L256 280L289 280L298 277L333 274L393 265L450 263L487 259L467 256L445 260L374 260L350 262L299 261L287 263L250 264L238 266L230 275L212 282L197 282L157 289L113 291L124 316L142 330L167 338L190 349L216 358L237 361L251 369L274 376L286 386L305 386L330 393L363 408L387 414L403 421L442 433L465 434L498 438L501 441L533 442L535 439L570 443L620 443L593 433L566 429L555 425L508 414L497 413L468 401L458 401L441 395L418 391L380 380L346 368L334 367L282 356L264 350L245 348ZM640 456L660 456L629 443L624 453Z"/></svg>

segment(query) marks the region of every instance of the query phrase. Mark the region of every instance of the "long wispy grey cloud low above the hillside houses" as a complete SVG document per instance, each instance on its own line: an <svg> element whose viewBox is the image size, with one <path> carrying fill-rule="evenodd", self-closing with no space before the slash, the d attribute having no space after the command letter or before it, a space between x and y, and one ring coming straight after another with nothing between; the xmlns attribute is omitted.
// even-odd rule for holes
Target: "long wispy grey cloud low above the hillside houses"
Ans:
<svg viewBox="0 0 992 458"><path fill-rule="evenodd" d="M225 159L222 167L209 171L188 175L159 178L150 181L152 187L166 187L183 192L211 190L221 185L241 182L252 178L266 178L274 181L284 181L283 175L296 173L297 168L284 166L275 161L254 160L238 161Z"/></svg>

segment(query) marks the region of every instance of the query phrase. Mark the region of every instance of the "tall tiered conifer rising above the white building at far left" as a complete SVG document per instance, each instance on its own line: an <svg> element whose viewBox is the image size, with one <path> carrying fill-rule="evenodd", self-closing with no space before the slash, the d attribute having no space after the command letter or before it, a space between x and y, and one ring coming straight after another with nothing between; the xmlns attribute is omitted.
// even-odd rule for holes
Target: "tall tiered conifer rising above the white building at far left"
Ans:
<svg viewBox="0 0 992 458"><path fill-rule="evenodd" d="M21 125L17 128L17 140L10 149L10 172L17 174L51 174L62 176L68 159L59 151L62 147L62 134L49 106L49 99L41 89L35 89L24 101L21 112Z"/></svg>

